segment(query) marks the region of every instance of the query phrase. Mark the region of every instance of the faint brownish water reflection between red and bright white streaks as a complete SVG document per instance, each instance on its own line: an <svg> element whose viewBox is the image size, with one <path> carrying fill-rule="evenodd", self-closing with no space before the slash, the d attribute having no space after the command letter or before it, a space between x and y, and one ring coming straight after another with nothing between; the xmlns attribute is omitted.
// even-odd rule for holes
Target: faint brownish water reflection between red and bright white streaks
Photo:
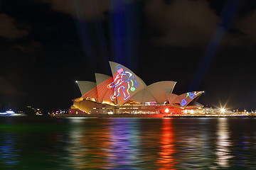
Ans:
<svg viewBox="0 0 256 170"><path fill-rule="evenodd" d="M208 123L201 118L174 119L177 169L208 169L211 165Z"/></svg>

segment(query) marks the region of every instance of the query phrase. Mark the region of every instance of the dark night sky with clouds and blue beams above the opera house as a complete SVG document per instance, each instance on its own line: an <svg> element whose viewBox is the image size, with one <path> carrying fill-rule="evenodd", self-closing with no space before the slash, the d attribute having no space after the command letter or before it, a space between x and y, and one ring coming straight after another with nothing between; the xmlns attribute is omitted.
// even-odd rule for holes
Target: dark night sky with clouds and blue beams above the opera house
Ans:
<svg viewBox="0 0 256 170"><path fill-rule="evenodd" d="M203 105L256 109L256 1L2 0L0 104L69 108L119 62Z"/></svg>

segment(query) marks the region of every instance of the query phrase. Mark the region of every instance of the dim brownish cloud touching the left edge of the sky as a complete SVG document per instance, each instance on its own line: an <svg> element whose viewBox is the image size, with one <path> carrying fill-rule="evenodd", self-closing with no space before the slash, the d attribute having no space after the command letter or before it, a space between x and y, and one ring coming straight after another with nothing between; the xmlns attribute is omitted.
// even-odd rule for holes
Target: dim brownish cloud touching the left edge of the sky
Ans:
<svg viewBox="0 0 256 170"><path fill-rule="evenodd" d="M0 23L0 36L3 38L14 40L28 35L28 30L18 28L14 18L5 13L0 13Z"/></svg>

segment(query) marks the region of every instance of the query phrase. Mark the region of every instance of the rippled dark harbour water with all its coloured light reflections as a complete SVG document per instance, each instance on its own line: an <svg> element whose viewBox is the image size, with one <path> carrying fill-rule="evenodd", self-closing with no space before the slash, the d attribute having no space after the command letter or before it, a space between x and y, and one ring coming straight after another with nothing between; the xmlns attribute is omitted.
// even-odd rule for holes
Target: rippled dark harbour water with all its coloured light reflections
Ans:
<svg viewBox="0 0 256 170"><path fill-rule="evenodd" d="M256 118L0 118L0 169L256 169Z"/></svg>

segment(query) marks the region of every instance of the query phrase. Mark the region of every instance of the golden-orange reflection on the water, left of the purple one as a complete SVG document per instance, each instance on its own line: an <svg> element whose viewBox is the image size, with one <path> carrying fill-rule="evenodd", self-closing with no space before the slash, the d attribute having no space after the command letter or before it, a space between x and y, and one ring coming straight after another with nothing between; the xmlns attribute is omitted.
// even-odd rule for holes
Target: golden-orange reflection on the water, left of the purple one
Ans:
<svg viewBox="0 0 256 170"><path fill-rule="evenodd" d="M85 119L71 120L68 145L68 164L75 169L101 169L105 166L108 147L106 128L102 124L92 125L93 121ZM87 125L89 124L89 125Z"/></svg>

